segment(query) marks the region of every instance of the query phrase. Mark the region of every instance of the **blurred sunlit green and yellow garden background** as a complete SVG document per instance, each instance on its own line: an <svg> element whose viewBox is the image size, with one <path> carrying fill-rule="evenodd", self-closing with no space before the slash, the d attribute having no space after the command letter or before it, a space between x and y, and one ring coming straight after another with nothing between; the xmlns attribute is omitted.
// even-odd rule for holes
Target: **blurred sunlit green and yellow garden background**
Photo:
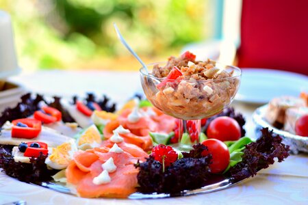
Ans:
<svg viewBox="0 0 308 205"><path fill-rule="evenodd" d="M209 36L209 0L1 0L12 16L18 61L24 70L112 69L140 66L116 37L146 63L178 55Z"/></svg>

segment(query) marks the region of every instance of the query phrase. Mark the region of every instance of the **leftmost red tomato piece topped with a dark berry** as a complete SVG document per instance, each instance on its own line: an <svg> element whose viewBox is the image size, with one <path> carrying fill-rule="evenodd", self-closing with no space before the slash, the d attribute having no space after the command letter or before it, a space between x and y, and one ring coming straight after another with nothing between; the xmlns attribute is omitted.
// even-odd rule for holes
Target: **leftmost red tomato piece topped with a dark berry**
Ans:
<svg viewBox="0 0 308 205"><path fill-rule="evenodd" d="M12 137L32 139L38 137L42 130L42 122L36 119L23 118L12 121Z"/></svg>

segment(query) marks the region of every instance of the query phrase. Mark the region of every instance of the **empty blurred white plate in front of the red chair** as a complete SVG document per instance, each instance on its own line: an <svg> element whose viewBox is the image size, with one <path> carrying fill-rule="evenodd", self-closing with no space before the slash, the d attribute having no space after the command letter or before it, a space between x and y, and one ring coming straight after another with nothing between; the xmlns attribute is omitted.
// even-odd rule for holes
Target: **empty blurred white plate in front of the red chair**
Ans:
<svg viewBox="0 0 308 205"><path fill-rule="evenodd" d="M243 68L240 90L235 100L266 104L275 96L299 96L308 92L308 77L303 74L259 68Z"/></svg>

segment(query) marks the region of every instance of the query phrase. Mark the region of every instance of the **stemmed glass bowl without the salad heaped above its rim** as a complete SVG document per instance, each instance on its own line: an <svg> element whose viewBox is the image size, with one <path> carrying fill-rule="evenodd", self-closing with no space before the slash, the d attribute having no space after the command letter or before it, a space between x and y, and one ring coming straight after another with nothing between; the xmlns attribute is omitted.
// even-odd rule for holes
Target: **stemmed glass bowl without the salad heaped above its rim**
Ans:
<svg viewBox="0 0 308 205"><path fill-rule="evenodd" d="M166 63L153 63L164 66ZM155 77L140 68L140 79L146 98L159 110L178 118L179 141L183 133L188 133L192 143L199 141L201 120L220 113L232 102L238 88L242 71L235 66L216 64L219 77L216 79L168 79ZM162 83L165 81L165 83ZM164 84L164 86L162 86ZM188 126L194 124L193 131ZM183 133L181 133L183 131ZM192 135L197 135L192 136Z"/></svg>

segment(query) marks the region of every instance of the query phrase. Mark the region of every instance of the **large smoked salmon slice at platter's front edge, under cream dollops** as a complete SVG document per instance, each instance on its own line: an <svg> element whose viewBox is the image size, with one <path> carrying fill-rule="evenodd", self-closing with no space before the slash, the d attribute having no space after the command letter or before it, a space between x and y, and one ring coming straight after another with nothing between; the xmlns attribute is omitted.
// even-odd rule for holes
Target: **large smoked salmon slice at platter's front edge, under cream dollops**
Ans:
<svg viewBox="0 0 308 205"><path fill-rule="evenodd" d="M107 140L109 141L109 140ZM73 184L81 197L118 197L125 198L136 192L138 169L134 163L149 157L138 146L124 141L118 143L122 153L109 152L114 143L106 146L77 152L66 169L68 184ZM102 164L112 157L116 171L109 173L110 182L94 184L93 179L103 172Z"/></svg>

